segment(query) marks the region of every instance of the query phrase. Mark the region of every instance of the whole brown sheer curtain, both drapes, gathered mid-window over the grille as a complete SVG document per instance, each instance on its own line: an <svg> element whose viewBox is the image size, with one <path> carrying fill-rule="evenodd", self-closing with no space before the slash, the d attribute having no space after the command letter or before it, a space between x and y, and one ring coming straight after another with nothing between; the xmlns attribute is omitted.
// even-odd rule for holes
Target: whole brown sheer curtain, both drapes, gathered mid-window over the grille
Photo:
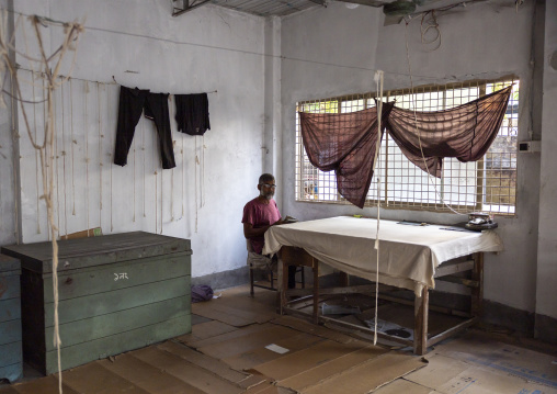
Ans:
<svg viewBox="0 0 557 394"><path fill-rule="evenodd" d="M383 103L382 128L386 124L411 162L440 178L443 157L466 162L486 154L501 126L511 89L452 110L416 112L416 116L413 111ZM321 171L334 170L339 193L363 207L377 148L377 109L341 114L299 112L299 123L309 161Z"/></svg>

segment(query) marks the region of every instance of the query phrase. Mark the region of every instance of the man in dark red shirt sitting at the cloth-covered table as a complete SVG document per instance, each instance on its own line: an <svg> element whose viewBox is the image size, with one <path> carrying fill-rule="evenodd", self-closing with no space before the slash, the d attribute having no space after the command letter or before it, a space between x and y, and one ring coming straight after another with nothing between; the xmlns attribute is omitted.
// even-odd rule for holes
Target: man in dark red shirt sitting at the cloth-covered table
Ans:
<svg viewBox="0 0 557 394"><path fill-rule="evenodd" d="M259 195L243 206L243 236L249 239L253 251L261 255L265 244L265 232L274 225L283 224L281 213L273 200L276 184L271 173L259 177ZM288 267L288 289L296 286L296 267Z"/></svg>

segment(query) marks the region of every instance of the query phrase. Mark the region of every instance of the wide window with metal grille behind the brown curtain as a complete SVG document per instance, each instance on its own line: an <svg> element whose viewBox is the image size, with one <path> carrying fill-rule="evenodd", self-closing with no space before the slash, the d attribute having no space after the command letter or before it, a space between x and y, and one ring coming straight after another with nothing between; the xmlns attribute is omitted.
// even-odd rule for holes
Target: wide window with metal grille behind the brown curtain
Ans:
<svg viewBox="0 0 557 394"><path fill-rule="evenodd" d="M516 145L519 131L519 80L468 81L387 91L384 101L416 111L447 110L513 85L503 122L488 153L475 162L443 160L442 178L413 166L385 134L366 205L380 199L383 207L492 212L513 215L516 205ZM308 160L302 142L298 111L344 113L374 106L375 93L299 102L296 105L296 200L349 204L337 191L334 171L322 172Z"/></svg>

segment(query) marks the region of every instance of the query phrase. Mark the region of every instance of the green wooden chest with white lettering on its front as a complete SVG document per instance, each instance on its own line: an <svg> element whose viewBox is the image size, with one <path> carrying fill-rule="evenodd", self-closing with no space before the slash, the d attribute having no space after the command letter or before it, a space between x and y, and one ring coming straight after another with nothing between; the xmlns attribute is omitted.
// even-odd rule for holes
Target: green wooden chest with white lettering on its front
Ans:
<svg viewBox="0 0 557 394"><path fill-rule="evenodd" d="M191 333L191 244L144 232L61 240L61 369ZM23 360L58 371L50 243L2 247L21 260Z"/></svg>

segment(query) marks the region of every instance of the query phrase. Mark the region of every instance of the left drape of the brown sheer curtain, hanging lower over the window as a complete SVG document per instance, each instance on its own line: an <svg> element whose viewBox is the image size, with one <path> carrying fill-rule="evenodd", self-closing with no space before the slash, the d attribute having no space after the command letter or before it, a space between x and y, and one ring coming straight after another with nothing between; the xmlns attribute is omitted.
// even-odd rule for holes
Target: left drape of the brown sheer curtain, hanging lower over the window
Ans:
<svg viewBox="0 0 557 394"><path fill-rule="evenodd" d="M393 104L383 104L382 128ZM377 109L351 113L299 112L302 138L309 161L334 170L339 193L363 207L373 177L377 148Z"/></svg>

